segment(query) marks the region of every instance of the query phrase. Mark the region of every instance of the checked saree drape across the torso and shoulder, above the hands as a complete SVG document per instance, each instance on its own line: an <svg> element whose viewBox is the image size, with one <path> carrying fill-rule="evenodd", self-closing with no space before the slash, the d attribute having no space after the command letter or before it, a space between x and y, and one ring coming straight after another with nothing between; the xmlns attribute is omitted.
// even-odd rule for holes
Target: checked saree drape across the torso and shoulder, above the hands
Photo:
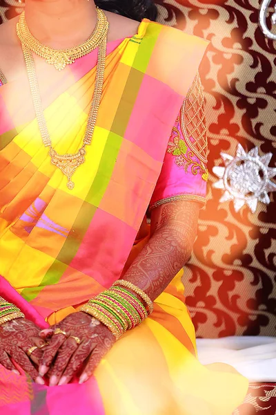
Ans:
<svg viewBox="0 0 276 415"><path fill-rule="evenodd" d="M28 100L12 107L9 84L1 86L0 275L44 317L120 277L207 44L144 19L107 56L95 132L73 190L50 163L37 120L14 121ZM59 154L81 147L95 82L94 58L85 58L86 73L44 111Z"/></svg>

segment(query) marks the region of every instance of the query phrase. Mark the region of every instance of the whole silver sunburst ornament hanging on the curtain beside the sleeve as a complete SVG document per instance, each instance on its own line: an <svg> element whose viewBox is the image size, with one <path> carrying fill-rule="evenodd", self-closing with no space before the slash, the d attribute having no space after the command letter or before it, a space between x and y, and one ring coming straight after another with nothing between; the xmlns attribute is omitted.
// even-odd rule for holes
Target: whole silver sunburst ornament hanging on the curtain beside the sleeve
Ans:
<svg viewBox="0 0 276 415"><path fill-rule="evenodd" d="M268 205L268 192L276 191L276 184L270 181L276 175L276 168L268 167L272 154L259 156L258 147L246 153L238 144L235 157L220 155L226 167L213 167L213 173L219 177L213 187L224 190L219 201L233 201L236 212L246 204L254 213L258 201Z"/></svg>

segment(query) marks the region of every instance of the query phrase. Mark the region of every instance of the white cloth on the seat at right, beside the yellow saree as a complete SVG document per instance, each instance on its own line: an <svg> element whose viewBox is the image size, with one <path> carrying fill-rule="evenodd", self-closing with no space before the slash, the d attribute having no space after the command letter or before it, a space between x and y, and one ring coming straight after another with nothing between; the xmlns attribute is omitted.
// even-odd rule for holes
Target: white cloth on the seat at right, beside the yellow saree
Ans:
<svg viewBox="0 0 276 415"><path fill-rule="evenodd" d="M229 336L197 339L199 362L223 362L246 376L250 382L276 382L276 338Z"/></svg>

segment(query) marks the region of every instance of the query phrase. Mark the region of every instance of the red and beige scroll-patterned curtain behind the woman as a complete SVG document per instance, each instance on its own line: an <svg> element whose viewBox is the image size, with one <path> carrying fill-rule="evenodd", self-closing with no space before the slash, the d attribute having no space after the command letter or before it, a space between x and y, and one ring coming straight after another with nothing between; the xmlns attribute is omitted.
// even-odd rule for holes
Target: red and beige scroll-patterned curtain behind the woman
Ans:
<svg viewBox="0 0 276 415"><path fill-rule="evenodd" d="M208 203L184 276L198 337L275 335L275 193L255 213L245 206L236 212L233 201L219 201L223 190L213 187L213 167L224 166L220 153L235 156L238 143L246 152L259 147L259 154L274 153L269 166L275 167L276 42L258 26L261 3L157 0L161 23L210 40L200 71L210 149ZM0 0L0 23L19 10L16 1Z"/></svg>

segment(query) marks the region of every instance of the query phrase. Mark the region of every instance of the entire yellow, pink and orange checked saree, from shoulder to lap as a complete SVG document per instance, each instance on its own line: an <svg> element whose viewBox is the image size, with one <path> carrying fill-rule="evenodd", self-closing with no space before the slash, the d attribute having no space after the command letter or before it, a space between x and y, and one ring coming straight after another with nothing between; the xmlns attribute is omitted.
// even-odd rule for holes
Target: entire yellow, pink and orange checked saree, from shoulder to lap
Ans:
<svg viewBox="0 0 276 415"><path fill-rule="evenodd" d="M72 191L50 163L23 84L3 80L0 295L39 326L74 312L126 271L148 241L148 205L175 196L204 201L204 168L179 168L185 145L177 115L205 48L205 41L147 19L135 37L108 44L97 126ZM96 59L94 51L75 62L65 80L71 84L57 98L51 100L54 86L41 91L59 153L81 145ZM181 276L83 385L40 386L0 366L1 414L230 415L247 381L199 364Z"/></svg>

